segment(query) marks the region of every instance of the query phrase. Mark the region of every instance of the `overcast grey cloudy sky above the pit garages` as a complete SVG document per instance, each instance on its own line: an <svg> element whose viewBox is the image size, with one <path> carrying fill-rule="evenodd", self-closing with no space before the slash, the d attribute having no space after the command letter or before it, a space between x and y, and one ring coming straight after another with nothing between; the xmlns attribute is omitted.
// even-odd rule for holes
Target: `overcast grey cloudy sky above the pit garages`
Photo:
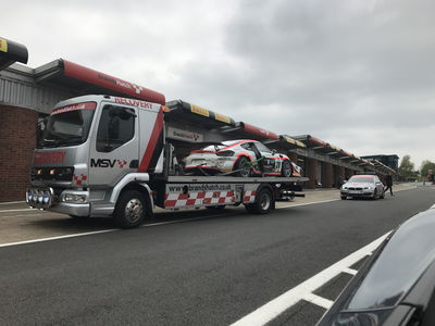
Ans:
<svg viewBox="0 0 435 326"><path fill-rule="evenodd" d="M63 58L357 155L435 161L435 1L4 1L30 67Z"/></svg>

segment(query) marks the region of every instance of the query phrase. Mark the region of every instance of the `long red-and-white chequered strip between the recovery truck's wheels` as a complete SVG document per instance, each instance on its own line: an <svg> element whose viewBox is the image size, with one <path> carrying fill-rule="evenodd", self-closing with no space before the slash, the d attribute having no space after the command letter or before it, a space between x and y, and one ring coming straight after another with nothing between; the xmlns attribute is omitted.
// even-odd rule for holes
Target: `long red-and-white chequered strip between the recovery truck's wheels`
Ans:
<svg viewBox="0 0 435 326"><path fill-rule="evenodd" d="M236 197L233 190L203 191L190 193L166 193L165 208L186 208L213 204L235 203Z"/></svg>

